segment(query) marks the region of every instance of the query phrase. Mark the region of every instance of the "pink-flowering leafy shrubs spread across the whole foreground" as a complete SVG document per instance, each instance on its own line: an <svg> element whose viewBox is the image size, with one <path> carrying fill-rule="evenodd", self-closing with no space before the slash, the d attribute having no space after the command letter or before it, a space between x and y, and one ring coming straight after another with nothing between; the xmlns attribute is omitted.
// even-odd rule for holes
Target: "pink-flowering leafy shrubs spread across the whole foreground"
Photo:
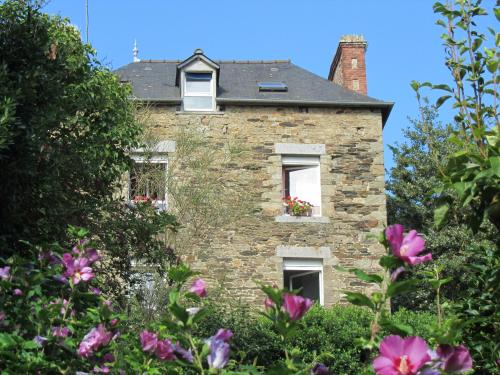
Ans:
<svg viewBox="0 0 500 375"><path fill-rule="evenodd" d="M231 360L231 330L218 328L208 338L194 334L207 314L203 300L209 290L203 279L193 279L196 274L188 267L169 270L173 286L168 294L168 313L138 333L128 327L126 316L114 312L112 303L95 285L98 275L92 267L101 261L101 255L83 239L87 232L73 228L72 235L78 241L71 251L56 245L50 250L32 247L34 261L15 256L2 260L2 369L13 373L57 372L63 368L93 373L330 373L321 363L325 354L304 361L291 345L301 319L313 305L296 291L261 286L266 294L261 314L277 333L284 358L265 368L242 365ZM459 342L460 324L452 318L444 319L443 306L438 304L438 322L428 341L414 336L411 326L392 320L386 310L389 298L418 288L417 281L398 281L398 276L415 264L431 261L431 254L421 255L424 239L415 231L405 236L404 228L396 224L382 233L381 243L387 249L380 259L384 275L347 270L377 284L380 291L370 296L345 292L350 302L373 311L370 337L360 343L369 350L379 346L379 356L373 362L375 372L438 375L470 370L471 356ZM430 282L438 290L447 280ZM387 331L392 334L381 337L381 332Z"/></svg>

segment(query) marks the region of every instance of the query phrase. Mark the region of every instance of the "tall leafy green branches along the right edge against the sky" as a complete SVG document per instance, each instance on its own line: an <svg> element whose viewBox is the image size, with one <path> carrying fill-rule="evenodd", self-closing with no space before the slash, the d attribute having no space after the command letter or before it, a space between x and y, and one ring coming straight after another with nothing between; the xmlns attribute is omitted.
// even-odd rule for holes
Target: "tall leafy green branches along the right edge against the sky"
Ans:
<svg viewBox="0 0 500 375"><path fill-rule="evenodd" d="M413 82L417 99L420 89L440 90L436 105L452 101L456 131L449 141L458 151L449 155L435 191L440 205L434 211L435 224L442 227L453 218L453 206L468 210L462 221L474 234L476 243L469 249L473 262L464 273L474 283L454 312L461 321L464 339L471 349L478 374L498 373L500 356L500 123L498 121L498 71L500 34L498 27L480 27L490 9L481 0L436 2L441 19L445 66L451 85ZM488 4L500 21L499 2ZM482 25L481 25L482 26ZM494 246L480 241L484 223L494 232Z"/></svg>

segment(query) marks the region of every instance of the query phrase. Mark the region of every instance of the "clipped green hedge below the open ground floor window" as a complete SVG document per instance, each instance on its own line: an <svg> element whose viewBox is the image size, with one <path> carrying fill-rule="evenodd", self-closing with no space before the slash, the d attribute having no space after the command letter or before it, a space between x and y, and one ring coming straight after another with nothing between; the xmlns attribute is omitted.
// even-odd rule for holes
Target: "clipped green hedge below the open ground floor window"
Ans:
<svg viewBox="0 0 500 375"><path fill-rule="evenodd" d="M284 357L280 338L270 323L248 306L208 306L210 313L196 332L200 337L209 337L218 328L229 328L234 332L232 357L259 365L270 365ZM415 334L429 338L429 323L434 316L428 312L400 310L392 317L395 322L410 325ZM369 333L371 313L355 306L336 305L330 308L315 306L302 319L301 327L292 339L289 350L299 349L304 361L312 362L316 353L327 355L321 358L336 375L359 375L366 370L369 359L355 344L359 337Z"/></svg>

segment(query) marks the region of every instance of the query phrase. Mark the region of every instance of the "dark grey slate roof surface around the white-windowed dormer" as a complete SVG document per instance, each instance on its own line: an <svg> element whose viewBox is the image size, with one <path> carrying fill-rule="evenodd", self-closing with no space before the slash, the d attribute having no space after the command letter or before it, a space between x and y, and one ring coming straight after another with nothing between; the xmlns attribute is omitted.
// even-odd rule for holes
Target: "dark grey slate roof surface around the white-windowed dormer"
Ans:
<svg viewBox="0 0 500 375"><path fill-rule="evenodd" d="M116 73L121 81L132 85L132 93L138 100L180 103L180 88L175 83L180 62L143 60L125 65ZM218 104L380 108L384 123L393 105L347 90L289 60L215 62L220 66ZM286 83L288 91L259 92L257 83L270 81Z"/></svg>

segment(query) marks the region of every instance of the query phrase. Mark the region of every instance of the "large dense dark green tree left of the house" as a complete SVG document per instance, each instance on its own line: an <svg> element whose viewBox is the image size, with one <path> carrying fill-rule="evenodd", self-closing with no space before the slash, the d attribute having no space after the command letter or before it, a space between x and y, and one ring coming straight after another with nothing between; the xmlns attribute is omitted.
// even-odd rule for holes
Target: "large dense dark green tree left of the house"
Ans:
<svg viewBox="0 0 500 375"><path fill-rule="evenodd" d="M137 145L129 89L68 20L0 6L0 241L64 239L112 199Z"/></svg>

